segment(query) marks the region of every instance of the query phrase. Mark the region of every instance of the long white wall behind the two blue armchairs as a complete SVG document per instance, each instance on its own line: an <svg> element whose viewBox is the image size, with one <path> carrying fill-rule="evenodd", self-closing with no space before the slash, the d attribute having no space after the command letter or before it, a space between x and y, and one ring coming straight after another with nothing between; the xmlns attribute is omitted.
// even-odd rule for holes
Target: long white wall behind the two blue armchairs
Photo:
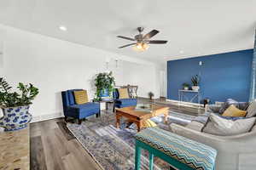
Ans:
<svg viewBox="0 0 256 170"><path fill-rule="evenodd" d="M110 70L114 71L118 84L136 83L142 96L148 91L156 92L155 67L148 61L9 26L0 25L1 29L5 31L3 72L7 81L13 86L17 82L32 82L39 88L40 93L31 109L34 121L61 116L62 90L84 88L93 98L92 77L106 71L106 58L110 58ZM115 68L114 59L119 59L118 68ZM125 65L125 61L132 63ZM131 71L131 68L134 69Z"/></svg>

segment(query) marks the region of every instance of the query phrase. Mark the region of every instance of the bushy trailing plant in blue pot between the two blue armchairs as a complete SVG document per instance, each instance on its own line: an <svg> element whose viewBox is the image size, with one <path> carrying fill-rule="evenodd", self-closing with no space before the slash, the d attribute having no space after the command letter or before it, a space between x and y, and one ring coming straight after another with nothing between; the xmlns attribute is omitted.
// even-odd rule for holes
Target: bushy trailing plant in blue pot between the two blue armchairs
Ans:
<svg viewBox="0 0 256 170"><path fill-rule="evenodd" d="M102 97L111 96L115 84L112 71L97 74L94 82L96 86L95 101L102 100Z"/></svg>

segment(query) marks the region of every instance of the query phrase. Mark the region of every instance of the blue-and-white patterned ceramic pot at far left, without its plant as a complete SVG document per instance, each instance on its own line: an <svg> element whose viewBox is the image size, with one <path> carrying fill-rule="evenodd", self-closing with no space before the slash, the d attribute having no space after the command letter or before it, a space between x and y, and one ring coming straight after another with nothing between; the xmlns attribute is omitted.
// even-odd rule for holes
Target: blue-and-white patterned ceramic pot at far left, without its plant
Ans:
<svg viewBox="0 0 256 170"><path fill-rule="evenodd" d="M4 131L15 131L25 128L32 120L32 115L28 112L29 105L2 108L3 117L0 118L0 127Z"/></svg>

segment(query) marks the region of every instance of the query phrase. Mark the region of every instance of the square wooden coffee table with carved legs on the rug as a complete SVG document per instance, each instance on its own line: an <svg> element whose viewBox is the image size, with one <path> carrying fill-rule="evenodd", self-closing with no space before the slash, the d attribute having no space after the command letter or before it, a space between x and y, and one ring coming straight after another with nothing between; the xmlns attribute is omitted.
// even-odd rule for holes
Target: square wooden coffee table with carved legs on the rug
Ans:
<svg viewBox="0 0 256 170"><path fill-rule="evenodd" d="M165 122L167 122L167 116L169 107L153 105L152 112L135 111L135 107L124 107L116 109L116 127L119 128L120 119L122 116L128 119L129 122L134 122L137 125L137 131L139 132L143 126L143 122L154 117L164 114Z"/></svg>

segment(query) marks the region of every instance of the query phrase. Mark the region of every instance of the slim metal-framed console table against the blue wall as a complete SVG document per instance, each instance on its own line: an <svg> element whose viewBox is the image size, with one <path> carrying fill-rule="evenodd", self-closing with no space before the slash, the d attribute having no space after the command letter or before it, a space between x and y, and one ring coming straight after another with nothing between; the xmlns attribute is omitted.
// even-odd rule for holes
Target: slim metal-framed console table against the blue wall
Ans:
<svg viewBox="0 0 256 170"><path fill-rule="evenodd" d="M186 94L192 94L191 95L186 95ZM186 100L183 100L186 99ZM178 90L178 100L180 102L185 101L185 102L194 102L194 100L197 99L197 103L200 104L201 102L201 91L195 91L195 90ZM195 102L194 102L195 103Z"/></svg>

